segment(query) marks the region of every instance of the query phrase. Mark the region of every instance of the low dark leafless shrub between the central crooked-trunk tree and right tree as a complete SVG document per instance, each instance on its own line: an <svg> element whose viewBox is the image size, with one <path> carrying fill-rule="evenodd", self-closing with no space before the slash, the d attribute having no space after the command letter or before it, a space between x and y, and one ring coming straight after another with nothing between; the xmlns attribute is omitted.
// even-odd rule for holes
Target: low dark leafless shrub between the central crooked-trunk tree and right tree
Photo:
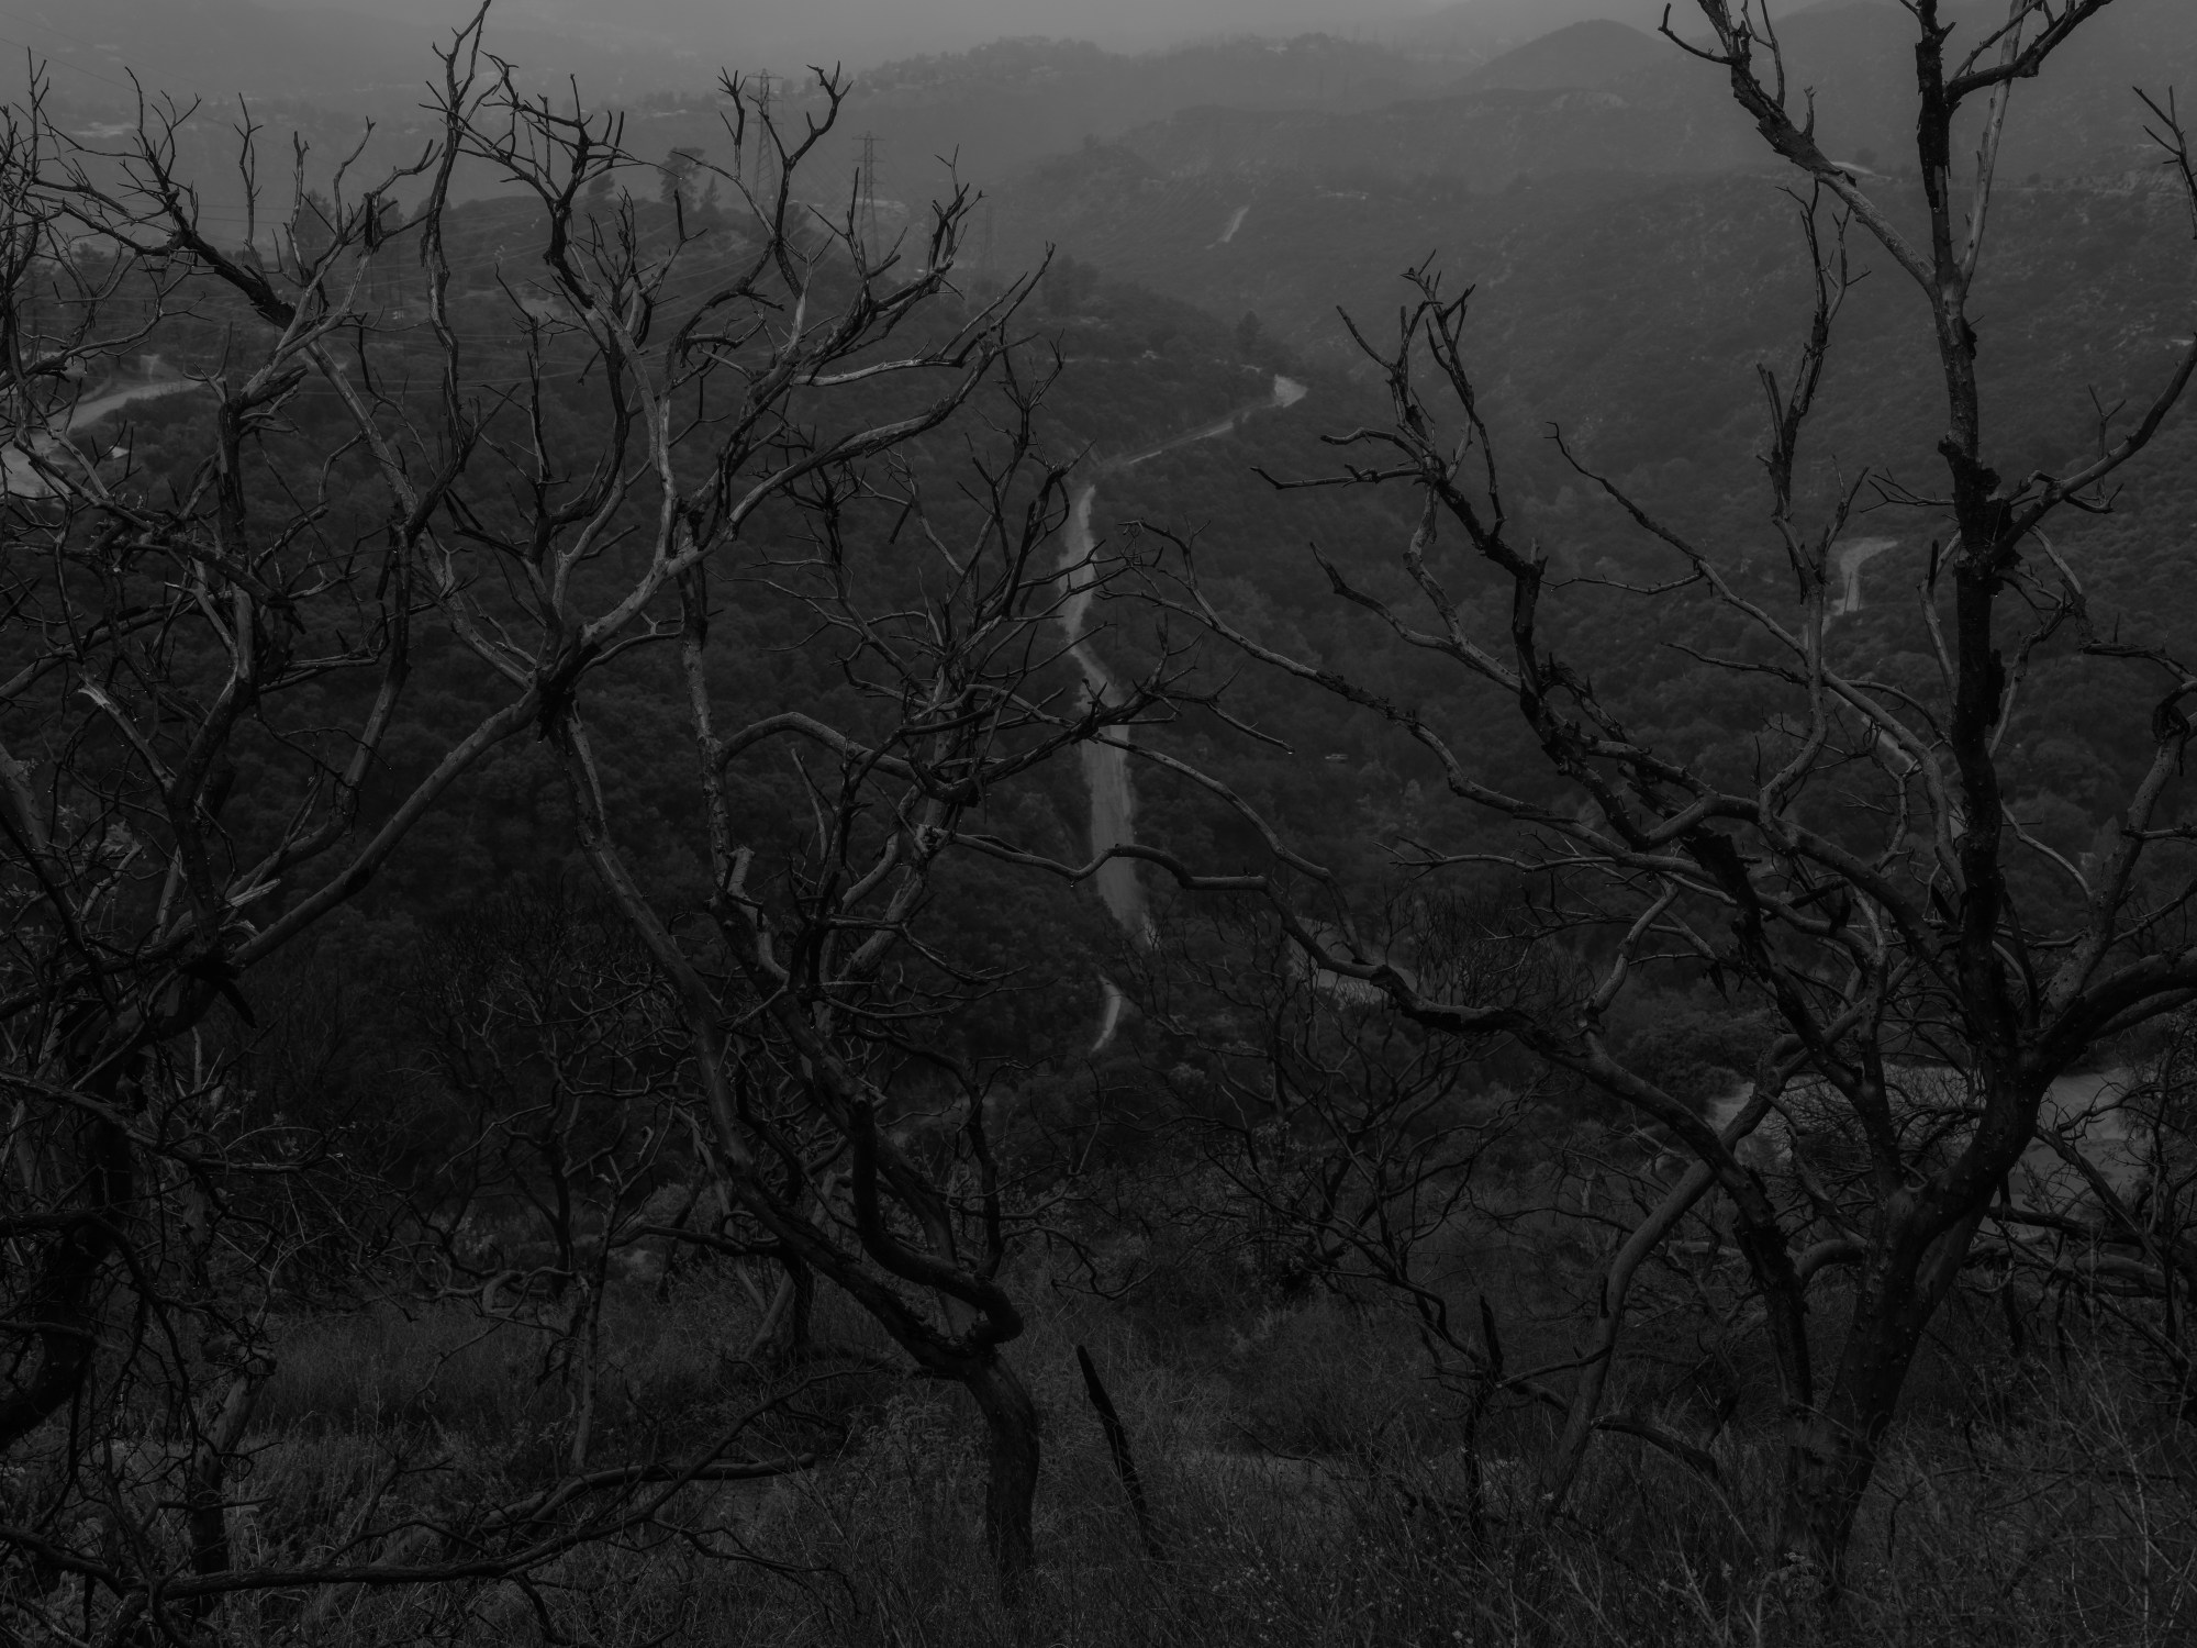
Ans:
<svg viewBox="0 0 2197 1648"><path fill-rule="evenodd" d="M1621 1217L1597 1209L1593 1189L1564 1206L1562 1173L1549 1178L1553 1195L1518 1178L1538 1132L1529 1123L1540 1112L1547 1125L1547 1094L1534 1092L1520 1048L1503 1033L1461 1037L1397 1015L1369 980L1318 967L1285 923L1246 921L1222 905L1213 929L1191 938L1178 921L1140 958L1142 1035L1184 1057L1153 1059L1142 1072L1164 1096L1149 1125L1167 1140L1167 1165L1156 1169L1167 1189L1145 1189L1120 1209L1125 1222L1167 1220L1213 1252L1248 1259L1283 1296L1320 1288L1356 1305L1399 1307L1428 1371L1461 1400L1474 1483L1481 1422L1498 1402L1566 1415L1577 1426L1566 1455L1584 1455L1595 1435L1624 1433L1716 1481L1705 1446L1650 1413L1606 1411L1599 1382L1593 1395L1584 1382L1571 1398L1560 1393L1551 1376L1580 1369L1582 1358L1518 1365L1485 1290L1457 1307L1459 1255L1481 1239ZM1421 993L1531 1002L1551 989L1553 956L1520 943L1512 912L1492 901L1413 894L1371 932ZM1131 1103L1149 1110L1151 1092ZM1588 1167L1602 1200L1630 1184L1635 1198L1661 1202L1668 1184L1657 1165L1670 1151L1624 1145L1624 1158ZM1672 1228L1676 1217L1657 1241ZM1714 1248L1714 1233L1698 1246ZM1689 1281L1694 1303L1700 1285Z"/></svg>

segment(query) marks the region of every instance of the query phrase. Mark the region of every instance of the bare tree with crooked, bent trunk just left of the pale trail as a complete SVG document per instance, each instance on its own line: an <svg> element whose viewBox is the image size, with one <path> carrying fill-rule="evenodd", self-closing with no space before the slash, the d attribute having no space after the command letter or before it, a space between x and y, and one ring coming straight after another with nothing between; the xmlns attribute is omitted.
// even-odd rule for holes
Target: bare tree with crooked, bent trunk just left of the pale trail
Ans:
<svg viewBox="0 0 2197 1648"><path fill-rule="evenodd" d="M727 83L727 92L738 88ZM826 81L837 110L844 88ZM707 1149L736 1211L710 1235L824 1279L932 1376L962 1384L989 1435L986 1536L1000 1571L1030 1565L1037 1415L1000 1347L1022 1329L1002 1281L1008 1215L986 1138L993 1072L947 1033L1000 980L932 918L964 820L1107 727L1153 714L1167 675L1083 701L1057 626L1083 567L1061 567L1068 464L1039 450L1011 321L1041 270L984 301L951 288L971 196L925 244L872 246L848 202L800 207L791 178L824 136L747 125L732 97L745 204L725 231L613 222L582 209L626 165L606 125L497 81L475 103L453 70L461 143L525 185L547 218L549 277L529 297L532 380L508 426L483 422L501 494L453 494L457 534L503 574L446 563L439 611L510 681L545 681L580 848L670 995ZM773 152L776 196L738 160ZM716 237L712 237L716 235ZM549 369L578 356L602 385L584 446L538 435ZM982 398L991 433L960 464L925 437ZM883 415L881 415L883 413ZM455 554L455 552L453 552ZM604 580L611 567L620 571ZM727 725L732 598L837 650L852 719L782 710ZM635 857L584 686L659 646L685 703L688 791L703 888ZM738 703L738 701L734 701ZM795 756L813 833L745 800L762 760ZM808 767L802 762L819 762ZM967 897L967 894L964 894ZM949 1143L951 1140L951 1143Z"/></svg>

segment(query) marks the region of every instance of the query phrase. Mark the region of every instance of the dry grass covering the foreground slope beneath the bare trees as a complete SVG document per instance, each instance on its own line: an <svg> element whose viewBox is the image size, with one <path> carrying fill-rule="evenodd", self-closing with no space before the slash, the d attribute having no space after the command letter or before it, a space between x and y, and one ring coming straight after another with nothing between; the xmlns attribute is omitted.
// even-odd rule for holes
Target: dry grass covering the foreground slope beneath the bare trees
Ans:
<svg viewBox="0 0 2197 1648"><path fill-rule="evenodd" d="M716 1347L740 1307L707 1288L615 1301L606 1446L701 1435L749 1400ZM828 1332L852 1332L828 1321ZM1092 1347L1129 1422L1167 1560L1134 1536L1074 1371ZM2105 1358L2001 1369L1990 1402L1942 1378L1896 1433L1841 1613L1791 1604L1755 1529L1775 1490L1764 1426L1716 1444L1709 1485L1604 1439L1575 1516L1531 1516L1547 1430L1507 1415L1472 1494L1457 1402L1413 1345L1336 1303L1246 1307L1162 1356L1118 1312L1055 1299L1015 1347L1048 1415L1044 1565L997 1597L975 1523L973 1411L872 1378L837 1400L850 1441L806 1477L688 1496L681 1527L573 1556L521 1589L233 1604L222 1641L769 1644L824 1648L1459 1648L1476 1644L1975 1644L2168 1648L2197 1639L2197 1459ZM562 1408L540 1345L455 1310L297 1329L268 1391L239 1556L334 1529L398 1457L510 1490L545 1470ZM1973 1391L1969 1393L1973 1395ZM402 1492L402 1490L400 1490ZM547 1622L547 1628L545 1628ZM7 1628L0 1626L0 1639ZM18 1622L18 1637L24 1635Z"/></svg>

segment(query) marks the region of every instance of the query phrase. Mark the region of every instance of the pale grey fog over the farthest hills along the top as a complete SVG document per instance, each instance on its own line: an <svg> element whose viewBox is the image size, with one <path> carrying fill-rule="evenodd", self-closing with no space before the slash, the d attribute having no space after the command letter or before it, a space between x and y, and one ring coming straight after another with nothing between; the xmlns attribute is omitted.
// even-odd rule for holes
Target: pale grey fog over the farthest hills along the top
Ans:
<svg viewBox="0 0 2197 1648"><path fill-rule="evenodd" d="M356 143L363 116L378 123L367 160L393 165L426 141L420 103L435 66L431 48L459 15L470 13L450 0L15 0L0 35L46 55L57 105L75 110L77 130L101 143L130 119L132 66L152 90L211 97L182 132L182 156L213 220L242 233L235 114L222 112L224 99L253 101L270 121L264 143L286 147L292 132L303 136L316 156L312 176ZM1520 178L1769 165L1722 75L1659 37L1663 9L1646 0L1468 0L1413 15L1345 9L1345 20L1369 20L1362 40L1327 31L1109 51L1019 33L947 48L956 31L1006 15L964 4L896 11L892 26L921 20L927 48L855 73L806 187L844 204L868 138L874 191L888 211L921 211L949 187L951 158L960 180L991 196L982 235L993 264L1061 244L1191 301L1270 308L1276 319L1301 314L1309 323L1331 297L1316 279L1294 281L1287 266L1257 272L1263 299L1235 283L1211 286L1222 266L1261 244L1270 207L1283 200L1292 202L1283 215L1320 237L1329 233L1320 224L1340 211L1338 191L1367 196L1371 204L1351 211L1378 222L1371 233L1345 233L1342 253L1397 233L1432 248L1450 240L1439 213L1428 220L1421 207L1380 204L1397 185L1485 196ZM1074 24L1044 4L1011 15L1030 29ZM1129 24L1140 18L1142 29L1156 15L1131 7L1112 33L1134 40ZM1178 22L1314 15L1327 13L1307 0L1193 7ZM1389 26L1371 26L1382 15ZM1672 15L1674 26L1687 26L1687 9ZM1995 13L1971 7L1969 15L1966 26L1979 29ZM852 29L883 13L848 0L802 18ZM771 4L639 0L604 13L578 0L499 0L488 44L525 83L573 77L589 101L626 108L626 145L642 163L685 149L729 165L716 66L754 68L762 46L791 40L798 20ZM1907 147L1909 31L1907 13L1878 0L1828 0L1782 20L1795 83L1813 94L1832 152L1859 167L1896 169ZM892 37L874 26L863 35L879 51ZM743 46L758 51L743 57ZM2021 119L2004 160L2010 176L2142 171L2155 154L2127 88L2197 83L2197 7L2120 0L2054 70L2019 92ZM780 83L778 94L789 119L819 110L793 83ZM470 169L459 176L461 191L486 187ZM631 187L650 196L657 185L635 176ZM1239 211L1248 215L1239 220ZM1470 215L1485 220L1487 211ZM1222 240L1230 222L1235 231ZM1336 257L1325 246L1307 253L1318 266Z"/></svg>

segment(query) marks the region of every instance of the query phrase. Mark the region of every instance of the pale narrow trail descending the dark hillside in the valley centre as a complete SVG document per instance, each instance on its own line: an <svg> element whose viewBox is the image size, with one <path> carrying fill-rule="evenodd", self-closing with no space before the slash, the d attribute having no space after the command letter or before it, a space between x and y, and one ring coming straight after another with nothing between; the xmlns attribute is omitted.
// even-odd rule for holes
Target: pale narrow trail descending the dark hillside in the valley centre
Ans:
<svg viewBox="0 0 2197 1648"><path fill-rule="evenodd" d="M1061 545L1059 578L1068 587L1068 600L1061 602L1059 622L1061 633L1068 639L1068 657L1083 672L1085 705L1107 703L1107 699L1120 690L1118 677L1107 668L1105 659L1098 657L1098 650L1090 644L1092 637L1088 633L1092 602L1098 595L1096 536L1092 534L1092 508L1098 503L1098 483L1109 475L1134 470L1138 464L1149 464L1167 453L1226 435L1261 411L1294 407L1305 398L1305 385L1294 378L1276 376L1272 391L1263 400L1252 400L1237 407L1226 417L1171 435L1158 446L1147 446L1129 457L1105 461L1098 466L1098 472L1077 490L1068 512L1068 532ZM1129 747L1131 734L1127 727L1114 727L1105 738L1094 738L1083 745L1083 782L1088 784L1092 798L1092 857L1105 853L1109 846L1136 846L1136 784L1129 778ZM1138 881L1136 864L1131 859L1107 859L1098 866L1096 881L1098 899L1105 903L1107 914L1114 916L1134 943L1149 945L1151 907L1145 901L1145 886ZM1103 1053L1114 1042L1127 1006L1120 987L1112 978L1101 976L1098 984L1105 993L1105 1006L1098 1022L1098 1039L1092 1042L1094 1055Z"/></svg>

